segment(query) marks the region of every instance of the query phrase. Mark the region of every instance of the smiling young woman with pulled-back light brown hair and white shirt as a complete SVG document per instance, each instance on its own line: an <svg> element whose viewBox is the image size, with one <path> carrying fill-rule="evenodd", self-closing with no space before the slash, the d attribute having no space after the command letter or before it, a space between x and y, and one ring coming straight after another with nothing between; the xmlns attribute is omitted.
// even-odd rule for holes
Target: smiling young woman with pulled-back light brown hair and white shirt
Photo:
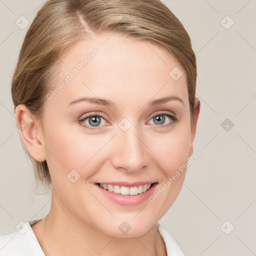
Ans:
<svg viewBox="0 0 256 256"><path fill-rule="evenodd" d="M199 114L196 60L159 0L49 0L11 93L46 216L0 255L183 255L158 223L185 177Z"/></svg>

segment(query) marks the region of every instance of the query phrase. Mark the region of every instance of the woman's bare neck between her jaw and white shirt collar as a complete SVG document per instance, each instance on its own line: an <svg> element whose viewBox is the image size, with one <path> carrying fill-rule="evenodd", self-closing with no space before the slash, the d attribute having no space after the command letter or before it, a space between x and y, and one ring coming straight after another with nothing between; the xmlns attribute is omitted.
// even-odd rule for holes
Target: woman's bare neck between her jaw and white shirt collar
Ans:
<svg viewBox="0 0 256 256"><path fill-rule="evenodd" d="M141 236L111 236L80 219L57 194L48 214L31 227L45 256L166 255L157 224Z"/></svg>

